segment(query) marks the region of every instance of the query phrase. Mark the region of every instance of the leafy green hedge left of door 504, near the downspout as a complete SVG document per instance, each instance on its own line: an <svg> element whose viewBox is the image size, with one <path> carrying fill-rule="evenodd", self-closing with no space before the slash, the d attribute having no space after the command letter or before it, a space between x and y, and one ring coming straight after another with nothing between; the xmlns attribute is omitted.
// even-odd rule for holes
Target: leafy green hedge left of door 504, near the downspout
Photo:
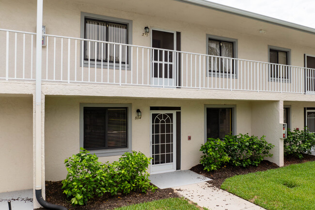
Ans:
<svg viewBox="0 0 315 210"><path fill-rule="evenodd" d="M72 205L84 205L95 195L129 194L131 191L145 193L149 189L156 189L150 185L146 172L150 158L141 152L126 152L119 161L103 164L98 162L95 154L80 149L78 154L64 161L68 174L62 181L62 189L71 198Z"/></svg>

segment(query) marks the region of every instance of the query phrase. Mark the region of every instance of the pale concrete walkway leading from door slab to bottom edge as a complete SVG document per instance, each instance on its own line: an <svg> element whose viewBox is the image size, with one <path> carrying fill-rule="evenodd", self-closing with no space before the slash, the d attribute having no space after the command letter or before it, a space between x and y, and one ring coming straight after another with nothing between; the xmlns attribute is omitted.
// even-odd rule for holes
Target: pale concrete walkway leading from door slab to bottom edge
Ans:
<svg viewBox="0 0 315 210"><path fill-rule="evenodd" d="M234 194L215 188L207 182L173 187L173 190L209 210L264 210Z"/></svg>

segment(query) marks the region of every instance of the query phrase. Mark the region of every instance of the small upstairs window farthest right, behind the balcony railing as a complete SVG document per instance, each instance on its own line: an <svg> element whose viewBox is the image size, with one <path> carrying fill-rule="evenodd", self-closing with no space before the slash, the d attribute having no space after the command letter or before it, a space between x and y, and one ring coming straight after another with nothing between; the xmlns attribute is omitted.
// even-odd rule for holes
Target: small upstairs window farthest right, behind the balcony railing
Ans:
<svg viewBox="0 0 315 210"><path fill-rule="evenodd" d="M271 78L289 78L290 50L285 48L269 47L269 63Z"/></svg>

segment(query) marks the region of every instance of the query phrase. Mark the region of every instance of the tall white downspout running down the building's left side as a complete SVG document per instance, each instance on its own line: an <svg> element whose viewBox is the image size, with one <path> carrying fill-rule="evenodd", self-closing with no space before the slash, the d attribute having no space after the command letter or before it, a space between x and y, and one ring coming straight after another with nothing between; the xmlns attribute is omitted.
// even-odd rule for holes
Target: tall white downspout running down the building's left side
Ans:
<svg viewBox="0 0 315 210"><path fill-rule="evenodd" d="M42 25L43 0L37 0L35 85L35 190L42 189Z"/></svg>

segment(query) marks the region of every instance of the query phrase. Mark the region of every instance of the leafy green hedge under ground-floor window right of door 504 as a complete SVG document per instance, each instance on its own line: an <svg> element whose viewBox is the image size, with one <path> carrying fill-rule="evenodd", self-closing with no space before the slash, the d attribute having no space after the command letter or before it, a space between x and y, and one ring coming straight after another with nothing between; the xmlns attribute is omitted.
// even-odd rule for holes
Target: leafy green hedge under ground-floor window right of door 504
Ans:
<svg viewBox="0 0 315 210"><path fill-rule="evenodd" d="M217 170L225 163L257 166L265 157L272 157L269 151L274 145L268 144L264 138L249 136L248 133L226 135L224 140L208 138L200 149L203 152L200 163L207 171Z"/></svg>

